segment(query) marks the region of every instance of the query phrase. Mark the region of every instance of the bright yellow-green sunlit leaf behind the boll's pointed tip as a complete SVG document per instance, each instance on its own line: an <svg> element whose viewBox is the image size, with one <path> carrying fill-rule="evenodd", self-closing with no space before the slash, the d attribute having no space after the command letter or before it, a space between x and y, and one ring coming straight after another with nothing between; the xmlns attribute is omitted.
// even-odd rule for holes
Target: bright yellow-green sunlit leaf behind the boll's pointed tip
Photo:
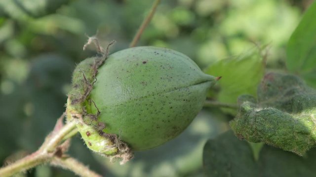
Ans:
<svg viewBox="0 0 316 177"><path fill-rule="evenodd" d="M254 48L237 58L220 60L210 65L205 72L222 77L218 81L221 88L218 101L237 103L237 97L241 94L256 95L257 85L264 74L263 56L261 50ZM236 114L235 110L227 111Z"/></svg>

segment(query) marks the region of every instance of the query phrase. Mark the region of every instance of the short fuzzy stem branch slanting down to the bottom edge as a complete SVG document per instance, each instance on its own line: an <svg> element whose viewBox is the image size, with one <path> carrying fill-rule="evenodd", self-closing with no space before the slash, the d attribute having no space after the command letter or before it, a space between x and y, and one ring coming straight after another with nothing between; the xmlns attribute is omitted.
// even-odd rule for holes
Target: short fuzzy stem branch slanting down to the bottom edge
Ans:
<svg viewBox="0 0 316 177"><path fill-rule="evenodd" d="M87 166L83 165L77 159L72 157L56 157L54 156L51 165L61 167L65 170L70 170L80 177L102 177L99 174L91 171Z"/></svg>

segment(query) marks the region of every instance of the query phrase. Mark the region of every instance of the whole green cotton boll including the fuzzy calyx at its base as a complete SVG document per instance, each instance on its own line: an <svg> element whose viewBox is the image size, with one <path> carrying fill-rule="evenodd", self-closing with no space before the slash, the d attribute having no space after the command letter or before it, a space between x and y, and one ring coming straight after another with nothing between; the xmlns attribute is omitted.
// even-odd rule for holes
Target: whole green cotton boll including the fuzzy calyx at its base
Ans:
<svg viewBox="0 0 316 177"><path fill-rule="evenodd" d="M215 82L179 52L128 48L106 60L79 63L67 117L78 121L88 148L125 158L124 152L155 148L179 135L202 109Z"/></svg>

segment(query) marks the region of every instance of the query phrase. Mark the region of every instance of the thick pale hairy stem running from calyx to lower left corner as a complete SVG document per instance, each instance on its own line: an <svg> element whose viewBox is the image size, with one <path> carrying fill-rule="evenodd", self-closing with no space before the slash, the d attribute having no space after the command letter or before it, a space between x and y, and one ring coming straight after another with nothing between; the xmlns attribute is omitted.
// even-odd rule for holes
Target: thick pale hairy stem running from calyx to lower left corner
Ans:
<svg viewBox="0 0 316 177"><path fill-rule="evenodd" d="M0 177L11 177L16 173L26 171L39 164L48 162L54 156L55 149L68 133L76 129L76 122L68 122L59 131L48 135L42 146L34 153L0 168Z"/></svg>

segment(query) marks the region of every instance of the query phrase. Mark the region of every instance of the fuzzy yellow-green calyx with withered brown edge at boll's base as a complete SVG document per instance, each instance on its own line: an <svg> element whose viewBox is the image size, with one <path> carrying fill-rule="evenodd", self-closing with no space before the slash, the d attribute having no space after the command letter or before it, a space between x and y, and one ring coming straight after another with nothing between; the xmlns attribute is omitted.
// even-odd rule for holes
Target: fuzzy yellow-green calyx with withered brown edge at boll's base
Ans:
<svg viewBox="0 0 316 177"><path fill-rule="evenodd" d="M121 158L121 164L133 157L128 146L121 142L116 134L103 132L105 124L98 121L99 112L91 114L86 111L85 105L93 104L89 94L93 88L98 68L103 64L105 57L93 57L81 61L73 73L73 89L68 94L67 119L76 121L79 133L86 146L94 152L114 158Z"/></svg>

